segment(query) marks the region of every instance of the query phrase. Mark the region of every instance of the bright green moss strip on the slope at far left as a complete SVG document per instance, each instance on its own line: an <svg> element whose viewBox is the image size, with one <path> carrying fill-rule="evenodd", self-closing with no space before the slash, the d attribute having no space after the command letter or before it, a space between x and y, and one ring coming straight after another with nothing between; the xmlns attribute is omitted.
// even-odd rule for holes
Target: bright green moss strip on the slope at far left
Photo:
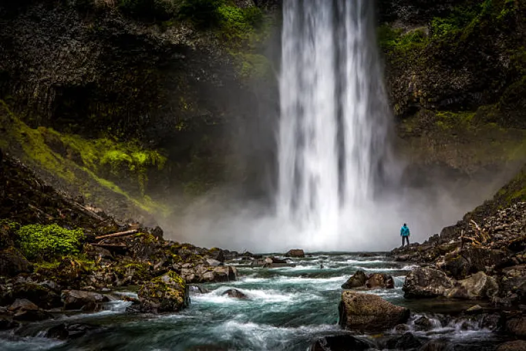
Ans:
<svg viewBox="0 0 526 351"><path fill-rule="evenodd" d="M166 157L159 151L144 149L138 141L124 143L110 138L85 139L51 128L29 128L2 100L0 122L6 126L1 140L8 147L21 148L25 162L32 162L67 184L78 186L87 199L94 196L94 189L89 185L91 180L110 193L123 195L142 210L168 212L165 206L145 195L149 169L162 169L166 163ZM123 191L108 177L135 182L137 195Z"/></svg>

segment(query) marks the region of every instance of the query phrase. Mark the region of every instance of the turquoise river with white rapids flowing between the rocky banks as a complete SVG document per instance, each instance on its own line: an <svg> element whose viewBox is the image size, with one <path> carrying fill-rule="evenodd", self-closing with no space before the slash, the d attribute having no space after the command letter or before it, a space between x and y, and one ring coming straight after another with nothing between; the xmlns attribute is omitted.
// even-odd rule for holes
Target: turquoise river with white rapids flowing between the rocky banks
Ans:
<svg viewBox="0 0 526 351"><path fill-rule="evenodd" d="M31 324L13 335L0 334L0 350L308 350L324 335L340 332L338 302L340 286L356 270L384 272L395 278L395 289L375 290L382 298L412 308L414 320L424 311L446 313L466 306L411 304L401 287L410 266L388 261L384 256L314 254L295 259L296 267L252 268L238 265L236 282L203 285L208 293L193 293L191 306L173 315L125 313L130 302L113 302L108 311L71 315ZM323 263L323 269L321 268ZM238 289L248 300L222 295ZM477 350L491 345L494 335L476 323L442 322L432 318L431 332L418 336L447 337L449 341L475 343ZM451 319L452 321L454 319ZM46 330L60 323L97 326L79 339L57 341L45 338ZM410 322L411 324L411 322ZM475 346L475 345L474 345ZM491 350L491 348L488 348Z"/></svg>

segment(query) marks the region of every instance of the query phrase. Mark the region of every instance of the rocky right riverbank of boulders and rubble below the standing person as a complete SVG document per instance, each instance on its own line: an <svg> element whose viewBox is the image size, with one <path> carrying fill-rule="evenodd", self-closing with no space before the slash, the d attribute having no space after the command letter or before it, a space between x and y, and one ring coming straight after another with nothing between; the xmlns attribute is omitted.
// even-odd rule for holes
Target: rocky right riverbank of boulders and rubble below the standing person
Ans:
<svg viewBox="0 0 526 351"><path fill-rule="evenodd" d="M424 243L392 250L390 256L418 265L405 278L405 298L479 301L486 307L466 313L488 317L497 311L494 330L524 339L526 203L492 210L489 202L487 211L483 207Z"/></svg>

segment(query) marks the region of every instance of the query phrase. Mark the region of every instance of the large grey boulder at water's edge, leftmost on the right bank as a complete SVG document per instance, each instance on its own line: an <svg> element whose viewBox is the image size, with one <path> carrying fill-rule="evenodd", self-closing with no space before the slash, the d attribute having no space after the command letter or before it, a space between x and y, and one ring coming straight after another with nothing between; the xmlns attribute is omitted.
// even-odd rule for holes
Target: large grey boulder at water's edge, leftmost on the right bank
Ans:
<svg viewBox="0 0 526 351"><path fill-rule="evenodd" d="M405 298L436 298L444 296L455 287L455 280L433 267L418 267L405 277Z"/></svg>

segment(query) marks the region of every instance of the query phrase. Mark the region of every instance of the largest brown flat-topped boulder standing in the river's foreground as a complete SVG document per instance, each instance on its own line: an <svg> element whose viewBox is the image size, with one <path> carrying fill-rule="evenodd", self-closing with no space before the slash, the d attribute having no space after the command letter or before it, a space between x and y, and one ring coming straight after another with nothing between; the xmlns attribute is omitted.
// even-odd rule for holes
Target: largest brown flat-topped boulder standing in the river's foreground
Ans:
<svg viewBox="0 0 526 351"><path fill-rule="evenodd" d="M377 295L346 290L338 306L340 326L359 332L379 332L405 323L408 308L395 306Z"/></svg>

